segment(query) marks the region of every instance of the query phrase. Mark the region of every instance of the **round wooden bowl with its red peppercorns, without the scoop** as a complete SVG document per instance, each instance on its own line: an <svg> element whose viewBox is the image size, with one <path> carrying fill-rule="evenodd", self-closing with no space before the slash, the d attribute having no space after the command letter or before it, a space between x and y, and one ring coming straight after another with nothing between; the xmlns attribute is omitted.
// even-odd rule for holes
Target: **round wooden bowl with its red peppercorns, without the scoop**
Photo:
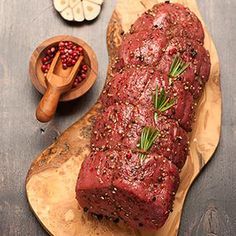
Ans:
<svg viewBox="0 0 236 236"><path fill-rule="evenodd" d="M72 88L60 98L60 101L71 101L84 95L95 83L98 73L97 57L86 42L74 36L60 35L42 42L34 50L29 63L30 79L41 94L46 91L45 78L58 51L65 70L73 67L80 56L84 57Z"/></svg>

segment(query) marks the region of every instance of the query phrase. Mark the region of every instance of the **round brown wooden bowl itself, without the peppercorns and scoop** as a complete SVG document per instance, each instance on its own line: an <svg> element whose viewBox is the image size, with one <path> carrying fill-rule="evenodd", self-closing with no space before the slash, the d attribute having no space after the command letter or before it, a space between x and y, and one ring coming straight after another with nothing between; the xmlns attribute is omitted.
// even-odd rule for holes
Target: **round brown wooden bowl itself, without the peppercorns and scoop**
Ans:
<svg viewBox="0 0 236 236"><path fill-rule="evenodd" d="M93 86L97 78L98 62L96 54L94 53L92 48L79 38L70 35L59 35L47 39L34 50L29 62L30 79L34 87L41 94L44 94L47 88L44 73L41 70L41 59L44 56L43 54L45 50L54 45L58 45L60 41L72 41L73 43L80 45L84 49L84 62L88 65L89 68L87 72L87 78L83 80L78 86L72 88L61 96L60 101L65 102L79 98Z"/></svg>

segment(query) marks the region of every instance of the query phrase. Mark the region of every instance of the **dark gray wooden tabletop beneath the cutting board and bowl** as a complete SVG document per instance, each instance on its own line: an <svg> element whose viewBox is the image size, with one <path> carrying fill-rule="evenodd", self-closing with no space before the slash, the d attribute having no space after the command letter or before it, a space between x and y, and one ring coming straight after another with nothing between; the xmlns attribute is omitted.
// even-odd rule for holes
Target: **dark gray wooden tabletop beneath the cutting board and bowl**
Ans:
<svg viewBox="0 0 236 236"><path fill-rule="evenodd" d="M179 235L236 235L236 1L199 0L221 59L223 125L213 160L193 185ZM98 98L106 76L106 26L115 6L105 0L95 22L67 24L51 0L0 1L0 235L46 235L31 213L24 181L34 157L79 119ZM28 79L28 61L42 40L72 34L97 53L100 70L93 89L79 100L60 105L49 124L35 120L40 95Z"/></svg>

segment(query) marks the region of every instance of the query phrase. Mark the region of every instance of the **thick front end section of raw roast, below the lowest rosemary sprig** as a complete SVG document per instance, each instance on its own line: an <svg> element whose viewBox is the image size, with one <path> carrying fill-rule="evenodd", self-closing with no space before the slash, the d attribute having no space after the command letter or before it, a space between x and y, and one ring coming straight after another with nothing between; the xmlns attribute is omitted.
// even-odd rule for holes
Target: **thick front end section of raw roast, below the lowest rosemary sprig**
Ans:
<svg viewBox="0 0 236 236"><path fill-rule="evenodd" d="M85 211L155 229L166 221L178 185L178 169L163 156L140 164L130 151L95 152L81 167L76 196Z"/></svg>

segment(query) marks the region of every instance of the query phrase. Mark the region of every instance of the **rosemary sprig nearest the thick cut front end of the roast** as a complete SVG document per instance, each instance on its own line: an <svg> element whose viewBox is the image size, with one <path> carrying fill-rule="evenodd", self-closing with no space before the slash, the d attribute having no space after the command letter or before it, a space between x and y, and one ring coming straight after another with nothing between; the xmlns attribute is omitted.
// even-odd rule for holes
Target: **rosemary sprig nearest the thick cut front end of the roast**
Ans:
<svg viewBox="0 0 236 236"><path fill-rule="evenodd" d="M155 140L159 136L160 132L159 130L153 128L153 127L144 127L142 134L141 134L141 139L140 139L140 144L139 144L139 149L140 149L140 154L139 157L141 160L145 159L147 153L151 147L153 146Z"/></svg>

